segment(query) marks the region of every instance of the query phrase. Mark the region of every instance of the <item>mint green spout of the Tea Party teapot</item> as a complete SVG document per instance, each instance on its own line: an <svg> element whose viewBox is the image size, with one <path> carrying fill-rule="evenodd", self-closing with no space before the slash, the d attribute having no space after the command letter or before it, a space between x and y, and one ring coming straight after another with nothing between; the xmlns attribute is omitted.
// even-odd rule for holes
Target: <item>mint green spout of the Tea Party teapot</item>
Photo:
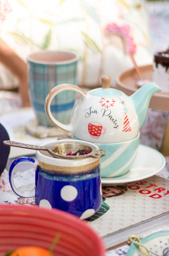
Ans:
<svg viewBox="0 0 169 256"><path fill-rule="evenodd" d="M155 92L160 91L161 88L152 82L145 84L130 96L138 116L139 128L142 127L146 119L151 97L155 94Z"/></svg>

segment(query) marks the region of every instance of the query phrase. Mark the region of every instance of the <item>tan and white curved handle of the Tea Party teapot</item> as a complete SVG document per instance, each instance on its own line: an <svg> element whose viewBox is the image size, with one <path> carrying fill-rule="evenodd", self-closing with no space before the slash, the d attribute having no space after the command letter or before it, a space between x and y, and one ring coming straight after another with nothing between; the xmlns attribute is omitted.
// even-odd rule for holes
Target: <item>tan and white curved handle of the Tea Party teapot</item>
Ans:
<svg viewBox="0 0 169 256"><path fill-rule="evenodd" d="M62 122L59 122L55 117L53 117L50 109L51 102L53 98L60 92L63 92L65 90L70 90L79 93L82 97L86 97L87 93L84 92L82 89L80 89L78 86L75 86L73 84L63 83L60 85L55 86L47 95L45 100L45 111L49 119L54 123L54 125L57 125L61 129L65 131L69 131L70 133L74 132L74 128L72 124L70 125L64 125Z"/></svg>

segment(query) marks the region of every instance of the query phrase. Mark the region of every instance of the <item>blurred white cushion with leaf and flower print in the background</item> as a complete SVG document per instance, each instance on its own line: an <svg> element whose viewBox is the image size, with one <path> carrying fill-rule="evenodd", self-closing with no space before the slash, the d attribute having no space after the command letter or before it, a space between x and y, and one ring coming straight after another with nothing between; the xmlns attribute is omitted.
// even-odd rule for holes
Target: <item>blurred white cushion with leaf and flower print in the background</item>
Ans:
<svg viewBox="0 0 169 256"><path fill-rule="evenodd" d="M38 50L78 52L81 86L102 75L114 86L133 58L151 63L146 20L141 0L0 0L1 38L25 61Z"/></svg>

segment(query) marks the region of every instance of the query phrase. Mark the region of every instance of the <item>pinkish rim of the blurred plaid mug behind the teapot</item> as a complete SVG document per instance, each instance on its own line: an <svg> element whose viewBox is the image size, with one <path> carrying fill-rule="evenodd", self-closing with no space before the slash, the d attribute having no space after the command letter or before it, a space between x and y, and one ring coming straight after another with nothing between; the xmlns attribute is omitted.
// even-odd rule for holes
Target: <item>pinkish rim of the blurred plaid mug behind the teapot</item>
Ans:
<svg viewBox="0 0 169 256"><path fill-rule="evenodd" d="M33 58L33 56L38 56L41 54L44 54L45 56L47 54L57 54L57 53L65 53L65 54L69 54L70 56L72 55L72 58L68 58L67 60L63 60L63 61L46 61L46 60L38 60L37 58ZM32 62L32 63L36 63L36 64L50 64L50 65L56 65L56 64L69 64L69 63L73 63L75 61L79 60L79 55L76 52L73 51L69 51L69 50L43 50L43 51L36 51L33 53L30 53L27 56L27 61Z"/></svg>

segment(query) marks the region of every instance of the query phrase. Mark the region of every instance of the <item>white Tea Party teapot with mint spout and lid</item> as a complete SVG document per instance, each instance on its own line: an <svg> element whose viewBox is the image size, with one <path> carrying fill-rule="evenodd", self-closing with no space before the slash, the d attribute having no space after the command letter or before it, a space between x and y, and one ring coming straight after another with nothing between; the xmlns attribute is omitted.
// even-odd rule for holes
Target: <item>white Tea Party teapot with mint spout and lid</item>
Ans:
<svg viewBox="0 0 169 256"><path fill-rule="evenodd" d="M96 143L117 143L134 139L147 115L150 98L161 91L155 83L148 83L133 95L110 88L111 78L102 76L102 88L83 91L78 86L61 84L49 92L45 110L49 119L76 138ZM71 123L65 125L51 113L51 101L60 92L72 90L80 94Z"/></svg>

